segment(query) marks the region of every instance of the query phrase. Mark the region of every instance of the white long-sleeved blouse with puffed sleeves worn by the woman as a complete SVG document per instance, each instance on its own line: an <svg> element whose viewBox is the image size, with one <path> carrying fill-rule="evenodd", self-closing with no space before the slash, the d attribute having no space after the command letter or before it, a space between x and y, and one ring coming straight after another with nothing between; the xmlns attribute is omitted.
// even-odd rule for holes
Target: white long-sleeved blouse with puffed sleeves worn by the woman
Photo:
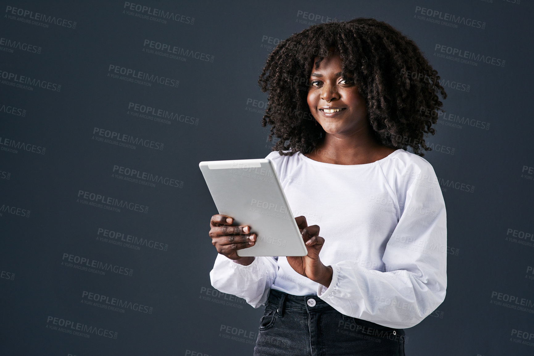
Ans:
<svg viewBox="0 0 534 356"><path fill-rule="evenodd" d="M325 286L296 273L286 257L248 266L217 255L211 285L257 308L270 289L317 295L342 314L410 328L445 299L445 202L432 165L397 149L373 163L342 165L303 154L272 160L293 216L319 225L319 258L333 268ZM254 231L254 226L250 226Z"/></svg>

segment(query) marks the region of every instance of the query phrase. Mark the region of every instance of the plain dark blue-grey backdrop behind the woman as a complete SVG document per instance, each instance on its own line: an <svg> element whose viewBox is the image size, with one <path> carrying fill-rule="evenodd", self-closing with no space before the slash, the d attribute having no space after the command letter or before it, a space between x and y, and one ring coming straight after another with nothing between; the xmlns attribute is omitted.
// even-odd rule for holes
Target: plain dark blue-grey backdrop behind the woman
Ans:
<svg viewBox="0 0 534 356"><path fill-rule="evenodd" d="M228 302L228 295L206 295L217 255L208 238L208 221L217 211L198 163L263 158L270 152L261 110L250 111L257 107L247 102L266 100L257 87L270 52L262 46L268 44L263 36L283 39L308 27L298 22L302 11L390 23L420 46L442 80L465 84L460 90L445 85L447 114L490 123L485 130L465 124L454 128L442 120L436 135L428 138L435 147L454 148L453 155L436 149L425 155L446 202L448 288L436 312L406 329L406 354L531 355L534 238L517 238L520 243L507 233L534 233L534 181L527 174L534 167L528 107L533 11L530 3L517 2L140 3L194 18L193 25L132 17L123 13L120 1L2 2L0 37L42 49L39 54L10 52L4 45L0 70L61 84L61 91L0 84L2 140L46 147L44 155L0 151L0 206L31 211L29 217L0 211L0 354L252 354L254 339L226 339L220 330L230 326L255 333L263 309L243 300L217 303ZM43 28L10 19L7 6L76 21L76 28ZM415 16L417 6L482 21L485 28L431 23ZM147 54L142 51L145 39L203 52L214 61ZM438 58L436 44L499 58L505 66ZM111 78L109 65L174 78L179 86L147 87ZM469 91L462 90L467 85ZM169 125L131 116L129 102L192 116L198 124ZM25 116L7 113L5 108L13 106L26 110ZM92 140L95 127L158 141L164 149L97 142ZM183 187L120 180L112 177L113 165L178 179ZM451 182L475 189L457 189ZM150 209L141 213L91 207L76 202L80 190ZM166 243L168 250L133 250L97 241L99 227ZM98 275L62 266L64 253L133 268L133 274ZM120 313L86 305L83 291L148 305L153 312ZM502 303L493 292L527 299L527 310L493 304ZM112 330L117 338L51 330L46 328L49 316ZM527 338L513 330L526 332L521 335Z"/></svg>

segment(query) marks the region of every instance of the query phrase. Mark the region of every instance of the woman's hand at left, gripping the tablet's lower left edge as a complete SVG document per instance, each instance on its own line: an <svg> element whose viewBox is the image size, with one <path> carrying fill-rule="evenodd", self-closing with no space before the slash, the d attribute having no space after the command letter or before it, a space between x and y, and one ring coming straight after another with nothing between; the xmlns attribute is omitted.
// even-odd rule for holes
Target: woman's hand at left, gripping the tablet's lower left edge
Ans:
<svg viewBox="0 0 534 356"><path fill-rule="evenodd" d="M241 257L237 250L254 246L256 234L250 234L250 226L232 225L233 218L215 214L209 221L209 237L219 254L233 259L235 263L249 265L254 261L253 256Z"/></svg>

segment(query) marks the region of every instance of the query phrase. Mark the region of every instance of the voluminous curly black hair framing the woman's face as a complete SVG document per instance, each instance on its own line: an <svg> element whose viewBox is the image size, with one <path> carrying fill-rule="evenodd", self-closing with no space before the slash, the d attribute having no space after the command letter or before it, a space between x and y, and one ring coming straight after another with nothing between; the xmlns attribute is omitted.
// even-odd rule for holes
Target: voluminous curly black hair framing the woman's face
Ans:
<svg viewBox="0 0 534 356"><path fill-rule="evenodd" d="M425 155L421 149L430 151L423 136L434 135L437 111L444 112L437 93L447 97L437 70L415 42L374 18L310 26L280 41L269 54L258 84L268 92L262 126L271 125L269 141L273 135L279 138L271 150L289 156L307 153L324 138L307 104L307 84L313 60L318 58L318 68L332 56L332 48L341 57L343 77L351 77L366 100L379 143L405 150L410 146L420 156Z"/></svg>

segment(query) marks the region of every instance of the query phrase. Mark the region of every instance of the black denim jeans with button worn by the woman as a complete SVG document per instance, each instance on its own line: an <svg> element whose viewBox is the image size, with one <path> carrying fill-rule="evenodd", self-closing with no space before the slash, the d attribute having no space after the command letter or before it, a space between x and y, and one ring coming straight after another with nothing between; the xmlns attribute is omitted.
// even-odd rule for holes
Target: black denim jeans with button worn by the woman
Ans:
<svg viewBox="0 0 534 356"><path fill-rule="evenodd" d="M271 289L254 356L404 356L404 329L348 317L316 295Z"/></svg>

